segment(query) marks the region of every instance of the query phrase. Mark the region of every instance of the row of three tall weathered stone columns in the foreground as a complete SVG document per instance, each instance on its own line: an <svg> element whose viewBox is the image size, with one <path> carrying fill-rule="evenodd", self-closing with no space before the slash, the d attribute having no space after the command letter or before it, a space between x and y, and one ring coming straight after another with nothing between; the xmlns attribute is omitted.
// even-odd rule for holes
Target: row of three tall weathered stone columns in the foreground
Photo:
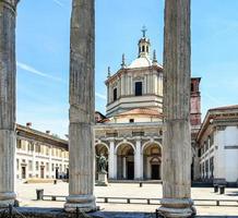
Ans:
<svg viewBox="0 0 238 218"><path fill-rule="evenodd" d="M0 0L0 207L14 204L15 11ZM70 39L70 180L64 208L96 209L94 196L95 1L73 0ZM190 0L165 1L163 196L165 217L190 217ZM176 134L175 134L176 133ZM139 144L135 145L139 147ZM110 148L112 149L112 148ZM110 159L111 161L111 159ZM139 159L135 159L139 161ZM179 168L178 168L179 166ZM114 164L114 168L116 164ZM112 173L110 170L109 173ZM136 175L140 173L135 171Z"/></svg>

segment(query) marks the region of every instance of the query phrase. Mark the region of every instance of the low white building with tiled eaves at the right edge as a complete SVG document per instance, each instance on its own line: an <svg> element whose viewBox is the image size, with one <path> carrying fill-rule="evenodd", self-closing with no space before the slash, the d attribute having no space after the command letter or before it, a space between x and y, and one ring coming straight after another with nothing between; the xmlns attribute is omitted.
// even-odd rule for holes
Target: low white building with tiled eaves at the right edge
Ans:
<svg viewBox="0 0 238 218"><path fill-rule="evenodd" d="M238 183L238 106L210 109L198 134L203 181Z"/></svg>

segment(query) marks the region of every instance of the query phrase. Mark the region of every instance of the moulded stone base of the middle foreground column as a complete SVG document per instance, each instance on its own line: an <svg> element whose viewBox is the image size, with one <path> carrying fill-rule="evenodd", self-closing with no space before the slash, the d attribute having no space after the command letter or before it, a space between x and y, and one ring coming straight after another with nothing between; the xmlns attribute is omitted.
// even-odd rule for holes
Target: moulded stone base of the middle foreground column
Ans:
<svg viewBox="0 0 238 218"><path fill-rule="evenodd" d="M76 208L83 213L96 211L96 198L94 195L70 195L67 197L64 210L75 213Z"/></svg>

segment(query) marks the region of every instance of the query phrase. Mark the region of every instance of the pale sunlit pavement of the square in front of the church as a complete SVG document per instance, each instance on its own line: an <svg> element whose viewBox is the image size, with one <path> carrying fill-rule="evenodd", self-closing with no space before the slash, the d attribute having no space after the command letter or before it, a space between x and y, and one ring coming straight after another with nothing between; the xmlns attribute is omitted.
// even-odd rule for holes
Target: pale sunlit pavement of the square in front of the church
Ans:
<svg viewBox="0 0 238 218"><path fill-rule="evenodd" d="M31 207L63 207L62 202L36 201L36 189L44 189L47 195L68 195L68 183L58 184L16 184L17 199L21 206ZM95 186L95 195L106 197L144 197L162 198L160 184L143 184L142 187L136 183L112 183L109 186ZM195 206L198 215L213 215L214 217L233 216L238 218L238 189L226 189L226 194L219 195L213 192L212 187L192 187L193 199L236 199L237 202L224 204L224 206ZM195 202L195 204L201 204ZM213 203L214 204L214 203ZM135 204L102 204L98 203L103 211L118 213L154 213L156 205L135 205ZM132 215L132 214L131 214ZM119 216L119 215L118 215ZM120 216L119 216L120 217ZM129 216L130 217L130 216ZM140 217L139 214L136 217Z"/></svg>

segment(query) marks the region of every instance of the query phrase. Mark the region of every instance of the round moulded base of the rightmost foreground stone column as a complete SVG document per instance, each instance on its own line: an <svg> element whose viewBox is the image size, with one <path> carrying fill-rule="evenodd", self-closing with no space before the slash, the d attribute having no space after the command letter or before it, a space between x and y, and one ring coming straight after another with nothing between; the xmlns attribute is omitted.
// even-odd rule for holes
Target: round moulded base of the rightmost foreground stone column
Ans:
<svg viewBox="0 0 238 218"><path fill-rule="evenodd" d="M197 214L193 201L190 198L163 198L160 203L162 207L158 208L158 213L167 218L187 218Z"/></svg>

